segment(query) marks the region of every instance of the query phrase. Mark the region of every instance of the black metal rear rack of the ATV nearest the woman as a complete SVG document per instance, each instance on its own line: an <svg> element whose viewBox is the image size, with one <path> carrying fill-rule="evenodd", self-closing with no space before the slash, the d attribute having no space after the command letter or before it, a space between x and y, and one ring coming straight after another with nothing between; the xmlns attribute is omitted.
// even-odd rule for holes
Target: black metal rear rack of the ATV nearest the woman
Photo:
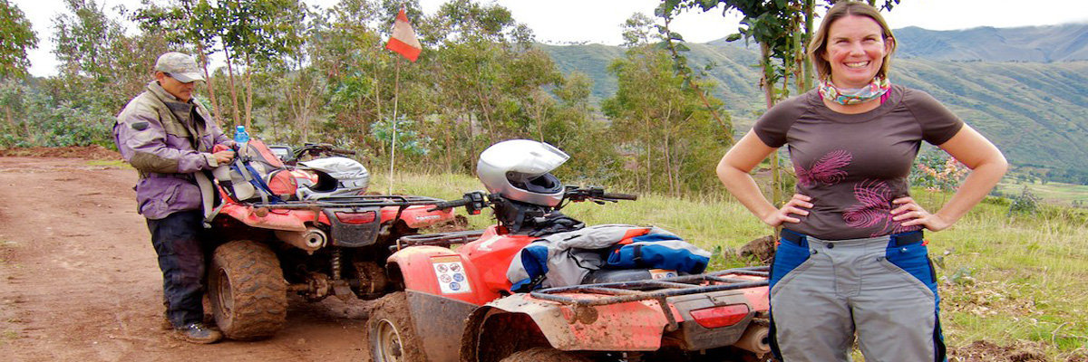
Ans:
<svg viewBox="0 0 1088 362"><path fill-rule="evenodd" d="M569 287L544 288L531 291L536 299L549 300L577 307L625 303L638 300L685 296L721 290L744 289L766 286L770 276L768 266L738 267L713 273L681 275L653 280L583 284ZM728 275L757 276L762 279L728 277ZM577 298L569 294L606 295L609 297Z"/></svg>

